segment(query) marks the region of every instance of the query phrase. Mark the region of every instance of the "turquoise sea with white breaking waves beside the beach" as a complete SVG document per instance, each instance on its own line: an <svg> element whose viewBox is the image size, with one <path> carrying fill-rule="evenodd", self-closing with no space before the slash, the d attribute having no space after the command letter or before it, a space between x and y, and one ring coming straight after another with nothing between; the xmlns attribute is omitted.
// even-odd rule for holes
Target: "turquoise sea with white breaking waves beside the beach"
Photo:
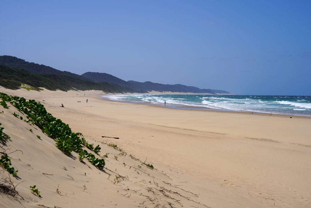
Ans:
<svg viewBox="0 0 311 208"><path fill-rule="evenodd" d="M114 101L156 104L167 108L215 109L240 112L311 116L311 96L118 94L103 95Z"/></svg>

